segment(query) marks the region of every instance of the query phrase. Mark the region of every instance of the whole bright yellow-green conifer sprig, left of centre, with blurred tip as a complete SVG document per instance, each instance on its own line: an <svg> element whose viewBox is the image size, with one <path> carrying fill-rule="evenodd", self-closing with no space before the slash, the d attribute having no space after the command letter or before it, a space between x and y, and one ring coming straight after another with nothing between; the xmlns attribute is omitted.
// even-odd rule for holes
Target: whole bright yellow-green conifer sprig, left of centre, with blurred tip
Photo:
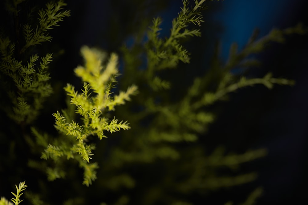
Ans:
<svg viewBox="0 0 308 205"><path fill-rule="evenodd" d="M96 135L101 140L107 137L104 132L112 133L130 128L127 121L119 121L115 117L109 120L104 113L113 111L115 106L129 101L130 96L137 93L137 87L132 85L126 92L120 91L118 95L112 95L111 89L116 83L115 77L118 76L117 55L112 53L109 61L106 62L106 53L97 49L84 46L81 48L81 53L85 66L78 66L75 73L84 81L83 90L78 93L70 84L64 88L67 95L71 97L71 104L76 108L75 112L80 115L80 119L76 119L80 122L71 119L67 111L63 111L63 114L59 111L54 113L55 128L63 136L59 139L61 143L55 141L54 144L47 146L42 153L42 158L45 160L51 158L55 164L58 164L63 156L66 156L67 160L76 159L79 166L84 169L83 184L89 186L96 179L95 169L98 168L98 164L88 164L92 159L92 150L95 149L94 144L87 144L88 137ZM35 129L34 134L42 139ZM54 180L63 178L65 172L60 171L58 167L48 169L47 174L50 180Z"/></svg>

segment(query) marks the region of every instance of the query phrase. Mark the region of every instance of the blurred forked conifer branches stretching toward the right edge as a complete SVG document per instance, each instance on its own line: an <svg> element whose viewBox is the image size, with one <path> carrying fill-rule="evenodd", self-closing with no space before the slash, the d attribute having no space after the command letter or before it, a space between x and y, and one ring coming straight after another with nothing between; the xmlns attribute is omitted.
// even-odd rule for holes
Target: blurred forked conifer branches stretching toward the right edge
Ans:
<svg viewBox="0 0 308 205"><path fill-rule="evenodd" d="M298 24L295 27L287 28L285 30L274 29L270 32L270 34L262 37L260 40L256 41L256 35L249 39L245 48L241 51L237 51L237 44L234 43L230 47L229 60L225 64L225 66L221 67L213 67L211 68L206 76L204 76L204 81L209 81L211 76L211 72L216 69L216 73L220 73L221 79L219 85L214 92L206 92L203 94L202 98L198 101L195 101L192 104L192 108L197 110L202 106L213 104L214 102L223 99L227 94L231 92L235 92L240 88L244 88L247 86L254 86L257 84L264 85L268 89L272 89L274 84L278 85L294 85L295 81L285 79L285 78L274 78L271 73L267 73L262 78L251 78L247 79L245 76L238 77L234 74L231 74L230 71L237 67L243 66L245 68L250 66L259 65L260 62L255 59L246 59L252 53L260 53L265 49L265 46L270 42L278 42L283 43L285 41L285 36L290 34L306 34L308 30L302 26L302 24ZM218 69L218 71L217 71ZM216 76L214 76L214 79ZM236 82L237 81L237 82ZM197 78L193 82L193 85L188 90L188 94L186 96L186 101L190 101L193 97L200 94L200 90L204 84L201 83L201 79Z"/></svg>

